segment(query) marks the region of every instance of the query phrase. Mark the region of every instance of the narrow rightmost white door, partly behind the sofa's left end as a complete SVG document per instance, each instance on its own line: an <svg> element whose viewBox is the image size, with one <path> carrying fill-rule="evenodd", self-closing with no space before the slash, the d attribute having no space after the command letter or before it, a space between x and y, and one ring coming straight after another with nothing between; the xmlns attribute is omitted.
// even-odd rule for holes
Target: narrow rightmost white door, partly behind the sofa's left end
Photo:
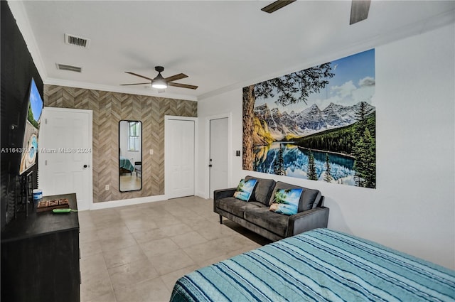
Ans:
<svg viewBox="0 0 455 302"><path fill-rule="evenodd" d="M228 118L210 119L210 198L213 191L228 188Z"/></svg>

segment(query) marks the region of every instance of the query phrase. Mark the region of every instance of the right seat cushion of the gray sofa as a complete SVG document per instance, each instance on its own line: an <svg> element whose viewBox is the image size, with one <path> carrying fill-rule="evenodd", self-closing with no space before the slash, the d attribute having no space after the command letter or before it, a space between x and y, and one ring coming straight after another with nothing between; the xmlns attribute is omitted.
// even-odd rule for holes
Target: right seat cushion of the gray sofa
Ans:
<svg viewBox="0 0 455 302"><path fill-rule="evenodd" d="M269 230L281 237L286 237L289 216L270 212L268 207L245 210L245 220Z"/></svg>

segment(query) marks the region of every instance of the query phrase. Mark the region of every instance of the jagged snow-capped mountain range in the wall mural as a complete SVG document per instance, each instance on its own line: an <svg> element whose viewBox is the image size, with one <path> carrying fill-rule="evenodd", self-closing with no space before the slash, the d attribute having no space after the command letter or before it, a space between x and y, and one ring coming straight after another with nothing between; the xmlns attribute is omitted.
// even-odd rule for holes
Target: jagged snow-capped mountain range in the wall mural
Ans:
<svg viewBox="0 0 455 302"><path fill-rule="evenodd" d="M366 103L367 112L374 112L375 107ZM360 102L353 106L329 104L325 109L319 109L312 104L301 112L279 112L278 108L269 109L267 104L255 107L255 115L262 122L264 131L275 140L286 136L301 137L328 129L348 126L356 122L355 114L359 112ZM265 123L265 124L264 124Z"/></svg>

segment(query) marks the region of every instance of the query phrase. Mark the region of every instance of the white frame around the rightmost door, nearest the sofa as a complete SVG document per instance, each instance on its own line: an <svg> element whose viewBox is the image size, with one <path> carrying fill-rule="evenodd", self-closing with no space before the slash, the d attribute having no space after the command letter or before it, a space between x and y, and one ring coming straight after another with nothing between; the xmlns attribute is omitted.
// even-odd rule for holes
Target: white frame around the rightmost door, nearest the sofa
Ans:
<svg viewBox="0 0 455 302"><path fill-rule="evenodd" d="M228 118L228 185L230 186L230 180L232 177L232 156L230 156L230 152L232 151L232 135L231 135L231 129L232 129L232 113L222 113L222 114L216 114L216 115L211 115L210 117L205 117L205 163L207 163L204 166L204 175L205 175L205 198L210 198L210 168L208 165L210 164L210 121L213 119L225 119Z"/></svg>

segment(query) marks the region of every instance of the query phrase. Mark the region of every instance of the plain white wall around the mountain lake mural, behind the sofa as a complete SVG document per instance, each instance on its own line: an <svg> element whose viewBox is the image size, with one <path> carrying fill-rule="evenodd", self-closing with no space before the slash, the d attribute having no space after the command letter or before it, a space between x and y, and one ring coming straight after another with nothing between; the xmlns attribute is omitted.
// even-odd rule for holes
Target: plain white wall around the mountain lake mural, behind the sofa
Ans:
<svg viewBox="0 0 455 302"><path fill-rule="evenodd" d="M250 174L319 189L331 209L329 228L455 269L454 28L452 23L375 48L375 190L243 171L235 156L242 150L241 90L199 102L199 137L205 137L206 117L232 114L232 187ZM203 194L207 149L200 139Z"/></svg>

